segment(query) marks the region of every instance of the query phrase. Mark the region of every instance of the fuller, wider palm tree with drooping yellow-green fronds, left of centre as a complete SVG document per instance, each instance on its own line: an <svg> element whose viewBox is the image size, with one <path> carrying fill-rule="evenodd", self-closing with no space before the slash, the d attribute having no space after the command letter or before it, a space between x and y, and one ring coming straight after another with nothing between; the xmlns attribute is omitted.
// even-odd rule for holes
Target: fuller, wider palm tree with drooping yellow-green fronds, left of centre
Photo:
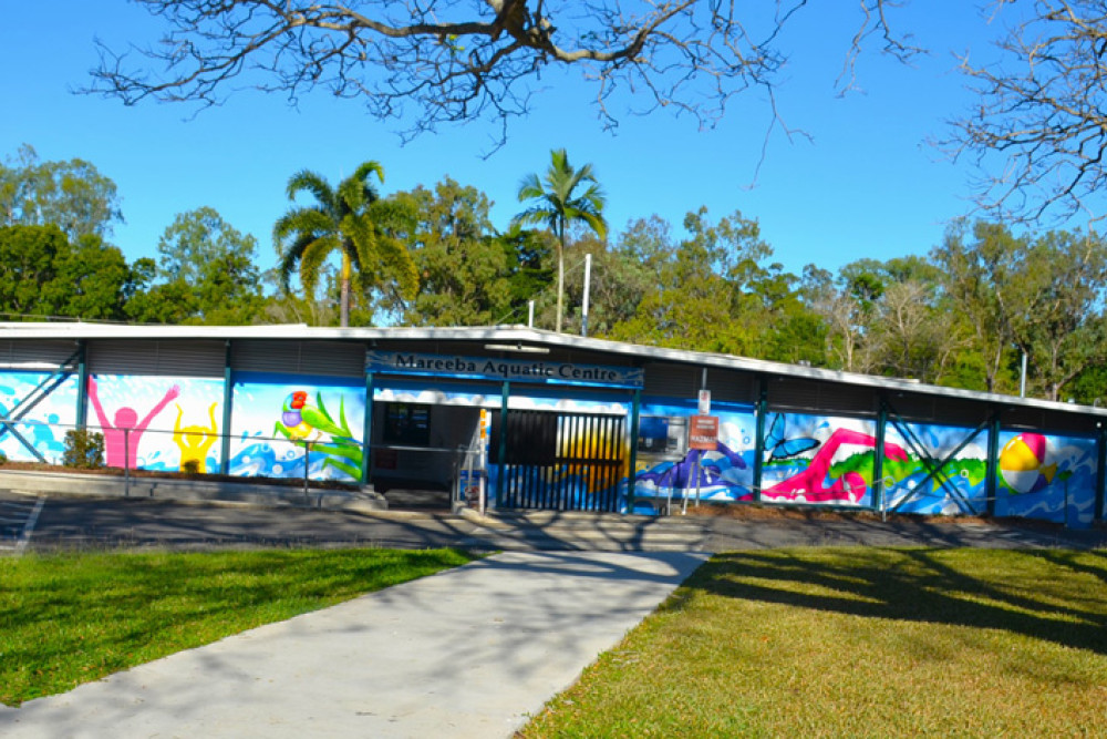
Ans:
<svg viewBox="0 0 1107 739"><path fill-rule="evenodd" d="M300 284L310 297L319 280L320 267L335 249L341 253L339 324L342 327L350 325L353 273L356 271L362 286L384 277L395 279L401 292L412 292L417 283L415 264L406 247L383 227L387 208L371 182L374 174L383 184L381 165L365 162L332 189L327 179L314 172L296 173L288 181L288 198L294 201L298 194L308 192L314 196L315 204L293 207L273 225L281 286L286 290L292 271L299 266Z"/></svg>

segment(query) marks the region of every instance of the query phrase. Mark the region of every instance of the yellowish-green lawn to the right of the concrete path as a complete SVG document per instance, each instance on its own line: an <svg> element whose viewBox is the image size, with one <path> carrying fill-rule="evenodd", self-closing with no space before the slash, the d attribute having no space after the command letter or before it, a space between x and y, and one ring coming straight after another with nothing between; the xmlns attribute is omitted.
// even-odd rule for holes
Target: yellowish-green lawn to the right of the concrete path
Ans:
<svg viewBox="0 0 1107 739"><path fill-rule="evenodd" d="M723 554L523 736L1107 736L1107 553Z"/></svg>

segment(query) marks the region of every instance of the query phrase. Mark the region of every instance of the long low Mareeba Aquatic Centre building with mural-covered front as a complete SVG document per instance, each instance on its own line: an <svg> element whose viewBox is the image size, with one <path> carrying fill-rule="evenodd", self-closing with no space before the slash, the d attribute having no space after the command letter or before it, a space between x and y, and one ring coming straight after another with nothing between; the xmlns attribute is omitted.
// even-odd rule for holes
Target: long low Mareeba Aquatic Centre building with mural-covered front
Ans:
<svg viewBox="0 0 1107 739"><path fill-rule="evenodd" d="M12 460L86 427L113 466L496 509L1104 516L1107 410L520 327L2 324L0 415Z"/></svg>

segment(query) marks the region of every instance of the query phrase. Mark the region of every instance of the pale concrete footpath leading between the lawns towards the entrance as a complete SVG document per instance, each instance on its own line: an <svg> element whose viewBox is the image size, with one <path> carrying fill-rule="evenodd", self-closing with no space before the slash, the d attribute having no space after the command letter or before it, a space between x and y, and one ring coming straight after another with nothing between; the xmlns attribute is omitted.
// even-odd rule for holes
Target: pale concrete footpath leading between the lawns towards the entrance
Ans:
<svg viewBox="0 0 1107 739"><path fill-rule="evenodd" d="M506 552L0 707L0 736L509 737L705 560Z"/></svg>

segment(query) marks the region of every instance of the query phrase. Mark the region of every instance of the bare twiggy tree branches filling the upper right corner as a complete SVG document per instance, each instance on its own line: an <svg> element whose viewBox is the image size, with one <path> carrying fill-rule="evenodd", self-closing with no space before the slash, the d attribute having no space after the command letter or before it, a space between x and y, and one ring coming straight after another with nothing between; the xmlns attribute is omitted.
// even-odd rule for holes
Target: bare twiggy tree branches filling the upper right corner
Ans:
<svg viewBox="0 0 1107 739"><path fill-rule="evenodd" d="M962 59L980 103L945 144L977 164L977 203L994 216L1094 212L1088 201L1107 185L1107 2L996 1L1004 6L1022 20L997 43L999 62Z"/></svg>

